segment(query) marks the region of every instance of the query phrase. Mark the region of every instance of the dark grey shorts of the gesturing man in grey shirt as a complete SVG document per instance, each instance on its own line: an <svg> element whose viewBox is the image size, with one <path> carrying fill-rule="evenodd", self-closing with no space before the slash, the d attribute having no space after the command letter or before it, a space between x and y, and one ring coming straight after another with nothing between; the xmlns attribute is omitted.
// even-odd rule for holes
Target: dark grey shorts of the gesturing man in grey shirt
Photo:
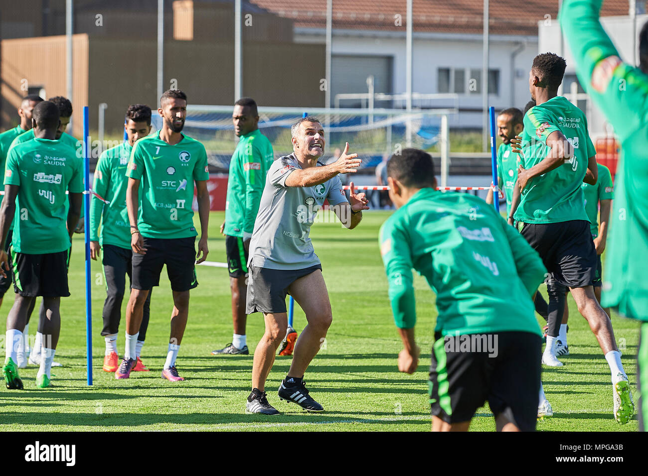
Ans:
<svg viewBox="0 0 648 476"><path fill-rule="evenodd" d="M321 271L321 264L305 269L270 269L250 266L246 314L286 312L286 296L289 294L290 285L318 269Z"/></svg>

